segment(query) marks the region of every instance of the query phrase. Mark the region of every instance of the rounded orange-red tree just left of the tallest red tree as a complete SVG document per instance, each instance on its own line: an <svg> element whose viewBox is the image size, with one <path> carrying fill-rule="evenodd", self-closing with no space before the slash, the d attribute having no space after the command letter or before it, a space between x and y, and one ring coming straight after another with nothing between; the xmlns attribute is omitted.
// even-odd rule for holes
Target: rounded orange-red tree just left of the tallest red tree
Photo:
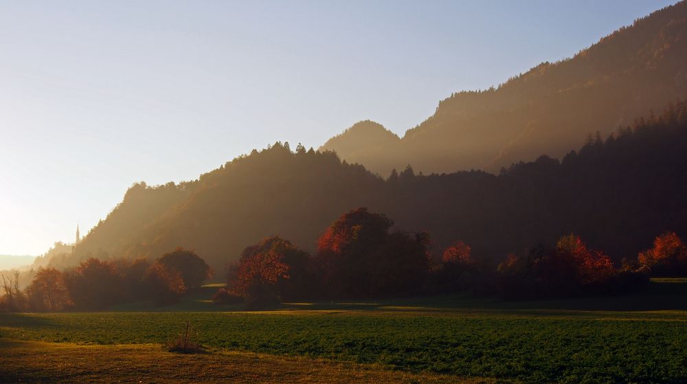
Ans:
<svg viewBox="0 0 687 384"><path fill-rule="evenodd" d="M246 247L227 278L227 291L251 305L303 297L313 281L308 253L279 236Z"/></svg>

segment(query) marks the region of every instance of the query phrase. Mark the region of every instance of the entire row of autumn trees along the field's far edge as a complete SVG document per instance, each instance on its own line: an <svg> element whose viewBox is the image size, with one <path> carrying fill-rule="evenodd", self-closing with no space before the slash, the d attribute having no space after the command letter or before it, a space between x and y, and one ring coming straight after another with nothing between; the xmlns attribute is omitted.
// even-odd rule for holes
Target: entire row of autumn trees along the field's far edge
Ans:
<svg viewBox="0 0 687 384"><path fill-rule="evenodd" d="M475 259L460 240L436 249L426 231L394 229L384 214L360 207L341 215L313 255L270 236L246 247L227 267L227 286L213 300L261 308L295 300L349 300L469 292L506 300L627 293L651 275L687 273L687 247L674 232L617 267L574 235L536 245L503 262ZM74 269L41 268L20 291L3 275L5 310L98 310L151 300L172 304L210 278L194 251L177 248L154 262L89 258Z"/></svg>

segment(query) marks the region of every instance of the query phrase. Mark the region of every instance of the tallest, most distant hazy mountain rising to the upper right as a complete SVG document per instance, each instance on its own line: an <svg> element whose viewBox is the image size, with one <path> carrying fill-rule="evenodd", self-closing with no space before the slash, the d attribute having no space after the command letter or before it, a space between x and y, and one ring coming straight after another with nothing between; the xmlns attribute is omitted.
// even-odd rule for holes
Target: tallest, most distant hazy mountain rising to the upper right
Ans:
<svg viewBox="0 0 687 384"><path fill-rule="evenodd" d="M407 164L425 173L498 172L543 153L561 157L590 133L608 135L686 95L682 1L496 89L453 93L400 140L369 140L371 129L349 128L320 149L383 175Z"/></svg>

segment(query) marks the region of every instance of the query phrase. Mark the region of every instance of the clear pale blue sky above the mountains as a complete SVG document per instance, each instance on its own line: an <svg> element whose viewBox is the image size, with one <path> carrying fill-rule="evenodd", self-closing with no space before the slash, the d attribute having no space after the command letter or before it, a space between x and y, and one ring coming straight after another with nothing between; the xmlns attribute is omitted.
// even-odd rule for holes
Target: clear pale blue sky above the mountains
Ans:
<svg viewBox="0 0 687 384"><path fill-rule="evenodd" d="M0 254L196 179L574 55L675 1L0 1Z"/></svg>

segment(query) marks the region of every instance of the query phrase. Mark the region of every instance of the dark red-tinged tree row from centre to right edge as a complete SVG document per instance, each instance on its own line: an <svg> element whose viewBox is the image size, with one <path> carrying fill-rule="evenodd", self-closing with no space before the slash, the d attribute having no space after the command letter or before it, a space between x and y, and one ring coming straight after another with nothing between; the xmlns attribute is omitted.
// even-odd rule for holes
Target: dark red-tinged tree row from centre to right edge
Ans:
<svg viewBox="0 0 687 384"><path fill-rule="evenodd" d="M247 247L229 266L215 302L260 307L297 300L349 300L471 292L503 299L627 293L651 275L684 275L687 248L674 232L616 267L574 234L555 245L509 254L500 263L473 258L462 241L433 251L427 232L392 230L383 214L361 207L339 217L311 256L279 236Z"/></svg>

